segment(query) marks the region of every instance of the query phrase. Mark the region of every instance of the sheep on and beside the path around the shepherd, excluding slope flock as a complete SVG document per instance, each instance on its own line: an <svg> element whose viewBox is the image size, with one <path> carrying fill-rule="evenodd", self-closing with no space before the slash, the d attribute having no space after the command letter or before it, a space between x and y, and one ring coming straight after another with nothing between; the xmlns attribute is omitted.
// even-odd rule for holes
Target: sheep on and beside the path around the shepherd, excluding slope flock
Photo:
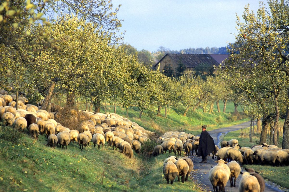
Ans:
<svg viewBox="0 0 289 192"><path fill-rule="evenodd" d="M185 132L170 131L158 138L160 144L155 146L153 155L160 155L168 150L175 155L181 156L182 151L186 155L197 151L199 148L199 137ZM216 146L216 151L212 151L212 158L217 158L216 166L209 172L209 180L212 183L214 192L225 191L225 186L230 180L230 186L236 187L236 179L239 174L242 178L239 183L239 191L263 192L265 182L262 176L252 168L241 172L240 164L268 164L268 165L288 165L289 150L281 149L277 146L267 144L254 145L252 147L241 147L238 140L232 139L222 141L221 148ZM193 162L188 157L169 156L164 160L163 174L167 183L173 181L176 177L182 176L182 182L187 181L188 174L193 170ZM186 179L184 178L186 177Z"/></svg>

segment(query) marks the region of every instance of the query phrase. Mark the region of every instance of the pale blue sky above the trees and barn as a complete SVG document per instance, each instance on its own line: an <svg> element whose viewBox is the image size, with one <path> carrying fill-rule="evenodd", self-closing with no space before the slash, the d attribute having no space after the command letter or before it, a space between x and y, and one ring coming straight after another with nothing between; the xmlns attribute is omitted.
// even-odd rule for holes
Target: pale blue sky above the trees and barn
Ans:
<svg viewBox="0 0 289 192"><path fill-rule="evenodd" d="M266 1L265 1L266 2ZM157 51L225 47L235 41L236 14L245 5L256 13L258 0L112 0L121 4L124 43L137 50ZM268 8L268 7L267 7Z"/></svg>

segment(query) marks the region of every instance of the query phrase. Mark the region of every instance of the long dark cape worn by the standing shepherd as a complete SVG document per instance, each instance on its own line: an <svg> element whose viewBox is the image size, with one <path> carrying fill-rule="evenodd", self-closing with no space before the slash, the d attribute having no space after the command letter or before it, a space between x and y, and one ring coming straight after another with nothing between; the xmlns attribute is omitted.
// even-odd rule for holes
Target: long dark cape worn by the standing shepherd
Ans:
<svg viewBox="0 0 289 192"><path fill-rule="evenodd" d="M208 131L202 131L200 135L198 157L210 155L214 150L216 150L214 139Z"/></svg>

